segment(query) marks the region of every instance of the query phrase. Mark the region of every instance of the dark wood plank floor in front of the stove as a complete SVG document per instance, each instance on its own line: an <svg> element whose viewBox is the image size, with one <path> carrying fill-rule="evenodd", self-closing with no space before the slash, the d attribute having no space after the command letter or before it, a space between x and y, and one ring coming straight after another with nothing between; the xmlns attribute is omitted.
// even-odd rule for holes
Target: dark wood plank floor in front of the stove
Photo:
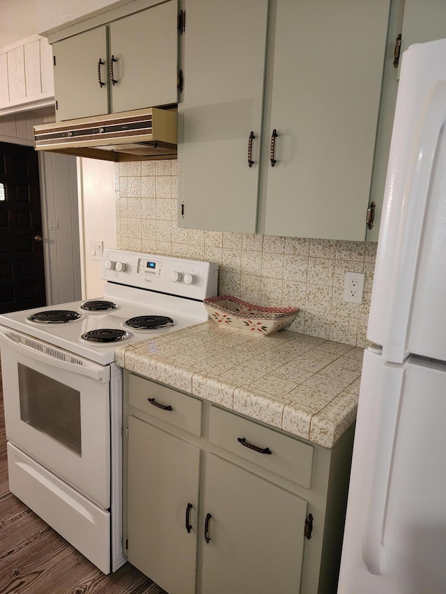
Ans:
<svg viewBox="0 0 446 594"><path fill-rule="evenodd" d="M130 563L103 575L9 492L1 371L0 594L166 594Z"/></svg>

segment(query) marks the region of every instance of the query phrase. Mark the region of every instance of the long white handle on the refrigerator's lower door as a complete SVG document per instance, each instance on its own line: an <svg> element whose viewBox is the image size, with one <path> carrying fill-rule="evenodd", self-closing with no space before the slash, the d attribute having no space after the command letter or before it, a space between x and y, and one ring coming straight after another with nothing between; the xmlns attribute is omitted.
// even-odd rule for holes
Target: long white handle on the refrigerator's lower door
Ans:
<svg viewBox="0 0 446 594"><path fill-rule="evenodd" d="M375 466L371 483L369 516L362 542L362 558L369 572L374 575L383 575L385 572L385 513L403 379L403 367L392 364L383 366L378 435L376 444L370 444L376 452Z"/></svg>

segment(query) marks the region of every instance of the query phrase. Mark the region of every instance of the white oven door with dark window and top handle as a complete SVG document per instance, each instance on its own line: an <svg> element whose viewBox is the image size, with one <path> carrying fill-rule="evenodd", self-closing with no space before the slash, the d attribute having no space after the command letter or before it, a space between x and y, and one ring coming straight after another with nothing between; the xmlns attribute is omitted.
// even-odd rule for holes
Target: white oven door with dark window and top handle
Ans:
<svg viewBox="0 0 446 594"><path fill-rule="evenodd" d="M0 327L6 437L110 506L108 366Z"/></svg>

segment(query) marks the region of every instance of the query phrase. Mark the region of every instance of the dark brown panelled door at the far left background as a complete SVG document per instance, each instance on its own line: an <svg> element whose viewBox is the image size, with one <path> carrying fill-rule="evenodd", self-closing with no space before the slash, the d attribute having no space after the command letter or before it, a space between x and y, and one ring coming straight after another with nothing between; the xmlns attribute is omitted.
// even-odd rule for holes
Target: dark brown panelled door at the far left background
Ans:
<svg viewBox="0 0 446 594"><path fill-rule="evenodd" d="M37 153L0 142L0 313L45 304Z"/></svg>

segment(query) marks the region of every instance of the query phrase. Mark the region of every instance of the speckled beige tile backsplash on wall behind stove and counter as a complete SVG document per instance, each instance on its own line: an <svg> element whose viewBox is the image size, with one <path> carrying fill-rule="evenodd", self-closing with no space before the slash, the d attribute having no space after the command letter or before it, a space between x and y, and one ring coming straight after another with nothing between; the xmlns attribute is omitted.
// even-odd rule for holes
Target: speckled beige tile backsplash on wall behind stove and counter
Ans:
<svg viewBox="0 0 446 594"><path fill-rule="evenodd" d="M364 347L376 243L178 228L178 162L116 164L116 246L208 260L220 295L298 307L290 330ZM364 272L362 304L343 301L345 273Z"/></svg>

